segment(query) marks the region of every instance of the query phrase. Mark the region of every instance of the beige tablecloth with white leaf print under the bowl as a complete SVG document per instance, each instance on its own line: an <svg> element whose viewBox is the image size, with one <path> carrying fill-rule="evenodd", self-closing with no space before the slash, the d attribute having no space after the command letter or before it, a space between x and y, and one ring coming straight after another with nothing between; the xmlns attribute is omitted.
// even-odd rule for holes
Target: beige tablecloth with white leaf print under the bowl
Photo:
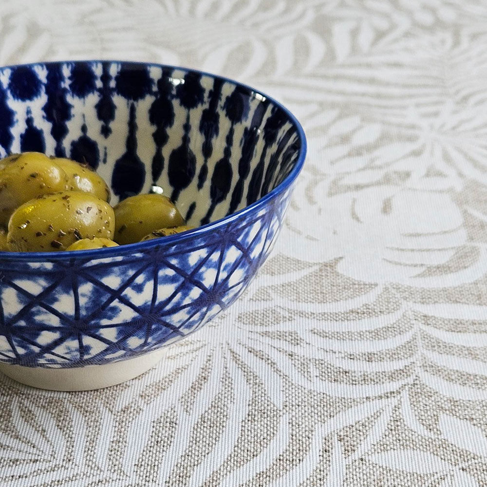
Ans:
<svg viewBox="0 0 487 487"><path fill-rule="evenodd" d="M2 2L0 63L237 78L309 156L244 297L128 383L0 377L2 487L487 485L487 4Z"/></svg>

